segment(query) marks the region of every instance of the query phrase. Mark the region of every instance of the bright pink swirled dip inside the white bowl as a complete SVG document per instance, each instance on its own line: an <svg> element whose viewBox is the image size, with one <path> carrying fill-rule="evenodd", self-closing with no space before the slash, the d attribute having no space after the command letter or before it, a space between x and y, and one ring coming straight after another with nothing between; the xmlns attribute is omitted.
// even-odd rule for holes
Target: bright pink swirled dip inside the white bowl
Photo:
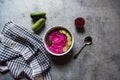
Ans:
<svg viewBox="0 0 120 80"><path fill-rule="evenodd" d="M52 41L52 44L50 46L47 44L48 49L56 54L63 53L63 47L67 41L66 36L61 34L59 30L56 30L48 34L46 43L49 39Z"/></svg>

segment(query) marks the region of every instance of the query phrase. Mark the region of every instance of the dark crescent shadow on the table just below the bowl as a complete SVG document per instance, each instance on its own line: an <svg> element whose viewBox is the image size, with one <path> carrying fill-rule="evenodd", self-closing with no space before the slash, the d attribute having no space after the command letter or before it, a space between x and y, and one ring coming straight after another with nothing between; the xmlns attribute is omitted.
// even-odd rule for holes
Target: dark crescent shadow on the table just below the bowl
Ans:
<svg viewBox="0 0 120 80"><path fill-rule="evenodd" d="M54 56L54 55L50 55L50 56L54 64L64 65L64 64L69 63L72 60L73 51L71 50L68 54L64 56Z"/></svg>

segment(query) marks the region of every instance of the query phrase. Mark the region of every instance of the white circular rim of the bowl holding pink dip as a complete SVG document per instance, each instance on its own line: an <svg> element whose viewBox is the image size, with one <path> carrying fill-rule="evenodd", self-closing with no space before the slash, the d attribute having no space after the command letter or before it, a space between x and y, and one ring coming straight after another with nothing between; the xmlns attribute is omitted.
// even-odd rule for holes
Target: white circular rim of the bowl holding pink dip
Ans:
<svg viewBox="0 0 120 80"><path fill-rule="evenodd" d="M49 32L51 32L52 30L58 29L58 28L62 28L62 29L67 30L67 31L70 33L71 37L72 37L72 44L71 44L70 48L69 48L66 52L64 52L64 53L62 53L62 54L56 54L56 53L50 51L50 50L47 48L47 45L46 45L46 37L47 37L47 34L48 34ZM69 53L70 50L72 49L73 44L74 44L74 37L73 37L72 32L71 32L68 28L65 28L65 27L63 27L63 26L54 26L54 27L52 27L52 28L49 28L49 29L46 31L46 33L45 33L45 35L44 35L43 43L44 43L45 49L46 49L50 54L52 54L52 55L54 55L54 56L63 56L63 55L65 55L65 54Z"/></svg>

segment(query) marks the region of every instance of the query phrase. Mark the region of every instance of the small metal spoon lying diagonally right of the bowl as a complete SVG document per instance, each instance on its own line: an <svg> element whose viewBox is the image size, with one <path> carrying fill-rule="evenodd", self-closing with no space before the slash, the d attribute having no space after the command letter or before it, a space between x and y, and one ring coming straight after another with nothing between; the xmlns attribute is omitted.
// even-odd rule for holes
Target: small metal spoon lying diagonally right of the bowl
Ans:
<svg viewBox="0 0 120 80"><path fill-rule="evenodd" d="M86 45L91 45L92 44L92 37L91 36L87 36L84 39L84 45L82 46L82 48L75 54L75 56L73 57L74 59L76 59L78 57L78 55L80 54L80 52L83 50L83 48Z"/></svg>

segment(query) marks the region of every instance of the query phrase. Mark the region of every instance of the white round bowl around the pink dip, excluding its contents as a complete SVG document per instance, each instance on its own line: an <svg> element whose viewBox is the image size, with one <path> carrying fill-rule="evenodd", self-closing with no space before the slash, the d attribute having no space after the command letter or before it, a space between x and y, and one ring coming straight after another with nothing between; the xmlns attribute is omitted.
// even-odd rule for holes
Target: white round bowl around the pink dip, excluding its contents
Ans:
<svg viewBox="0 0 120 80"><path fill-rule="evenodd" d="M47 43L46 43L46 38L48 37L48 34L49 34L50 32L52 32L53 30L56 30L56 29L66 30L66 31L70 34L71 39L72 39L72 43L71 43L69 49L68 49L66 52L63 52L63 53L60 53L60 54L54 53L54 52L50 51L50 50L48 49L48 46L47 46ZM73 44L74 44L74 38L73 38L72 33L70 32L70 30L68 30L67 28L62 27L62 26L52 27L52 28L50 28L50 29L45 33L45 35L44 35L44 45L45 45L45 48L46 48L46 50L47 50L50 54L52 54L52 55L54 55L54 56L63 56L63 55L66 55L66 54L67 54L68 52L70 52L70 50L72 49Z"/></svg>

